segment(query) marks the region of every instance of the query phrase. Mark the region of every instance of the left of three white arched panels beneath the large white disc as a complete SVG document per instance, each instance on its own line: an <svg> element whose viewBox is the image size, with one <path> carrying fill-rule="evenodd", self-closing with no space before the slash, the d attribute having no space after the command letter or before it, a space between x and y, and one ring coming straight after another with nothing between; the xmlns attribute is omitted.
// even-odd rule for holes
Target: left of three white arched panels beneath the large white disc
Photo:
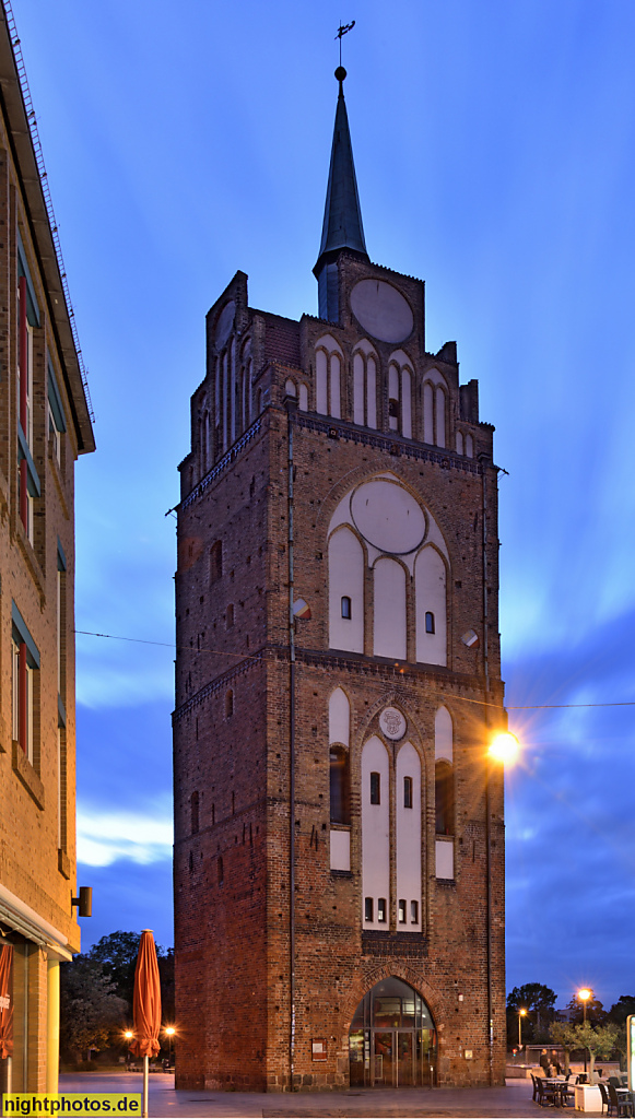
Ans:
<svg viewBox="0 0 635 1119"><path fill-rule="evenodd" d="M342 617L342 598L351 599L351 618ZM349 528L340 528L328 542L329 647L364 651L364 552Z"/></svg>

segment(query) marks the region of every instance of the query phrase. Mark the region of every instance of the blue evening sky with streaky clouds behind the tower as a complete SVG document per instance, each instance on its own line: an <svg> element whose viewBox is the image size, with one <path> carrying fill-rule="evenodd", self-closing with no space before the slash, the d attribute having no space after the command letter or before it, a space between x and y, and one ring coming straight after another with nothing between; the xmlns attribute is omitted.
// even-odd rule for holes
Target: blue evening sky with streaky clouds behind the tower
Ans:
<svg viewBox="0 0 635 1119"><path fill-rule="evenodd" d="M511 707L635 703L635 6L12 0L96 412L77 464L84 944L172 942L176 466L204 319L317 312L337 87L368 252L496 425ZM508 987L635 991L635 706L511 711Z"/></svg>

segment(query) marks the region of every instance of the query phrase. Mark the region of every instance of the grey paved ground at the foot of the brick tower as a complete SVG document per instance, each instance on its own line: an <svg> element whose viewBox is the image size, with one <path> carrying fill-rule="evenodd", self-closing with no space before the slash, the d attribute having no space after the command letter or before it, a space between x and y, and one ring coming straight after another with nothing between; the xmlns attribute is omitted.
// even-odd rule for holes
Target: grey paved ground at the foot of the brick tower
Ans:
<svg viewBox="0 0 635 1119"><path fill-rule="evenodd" d="M505 1088L412 1088L394 1091L348 1092L193 1092L175 1091L174 1076L150 1075L152 1119L525 1119L541 1115L532 1102L529 1080L508 1080ZM138 1073L72 1075L59 1078L59 1091L140 1092ZM572 1117L573 1111L567 1111ZM560 1113L560 1111L558 1111ZM577 1112L576 1112L577 1115ZM599 1117L588 1112L585 1119Z"/></svg>

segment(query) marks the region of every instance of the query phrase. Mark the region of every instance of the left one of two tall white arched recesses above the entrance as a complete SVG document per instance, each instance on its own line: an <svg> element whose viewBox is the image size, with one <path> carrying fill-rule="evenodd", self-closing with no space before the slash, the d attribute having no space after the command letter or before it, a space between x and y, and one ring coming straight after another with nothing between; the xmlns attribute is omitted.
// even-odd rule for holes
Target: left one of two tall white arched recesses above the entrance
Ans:
<svg viewBox="0 0 635 1119"><path fill-rule="evenodd" d="M371 781L371 774L379 774ZM379 803L371 803L371 787L379 790ZM390 905L390 783L389 755L374 735L362 750L362 899L363 928L387 929ZM368 901L372 919L368 918ZM379 918L383 914L384 920Z"/></svg>

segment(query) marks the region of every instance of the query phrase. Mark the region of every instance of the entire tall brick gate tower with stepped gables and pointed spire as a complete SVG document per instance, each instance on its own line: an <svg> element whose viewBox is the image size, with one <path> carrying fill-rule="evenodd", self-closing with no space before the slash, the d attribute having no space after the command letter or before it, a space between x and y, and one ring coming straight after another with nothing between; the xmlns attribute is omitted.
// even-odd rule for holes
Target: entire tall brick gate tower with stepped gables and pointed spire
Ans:
<svg viewBox="0 0 635 1119"><path fill-rule="evenodd" d="M180 464L177 1087L504 1078L493 429L370 261L345 76L319 317L236 273Z"/></svg>

